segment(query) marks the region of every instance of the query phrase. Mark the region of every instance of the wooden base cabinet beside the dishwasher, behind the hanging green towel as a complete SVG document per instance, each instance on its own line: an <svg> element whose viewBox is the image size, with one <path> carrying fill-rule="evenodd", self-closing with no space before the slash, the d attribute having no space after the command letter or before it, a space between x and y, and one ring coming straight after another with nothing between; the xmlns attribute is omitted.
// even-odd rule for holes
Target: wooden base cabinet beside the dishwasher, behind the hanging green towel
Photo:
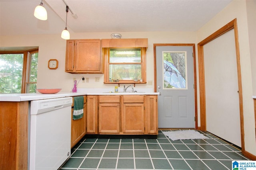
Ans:
<svg viewBox="0 0 256 170"><path fill-rule="evenodd" d="M74 98L71 111L71 148L86 134L86 96L84 96L84 115L81 119L73 120Z"/></svg>

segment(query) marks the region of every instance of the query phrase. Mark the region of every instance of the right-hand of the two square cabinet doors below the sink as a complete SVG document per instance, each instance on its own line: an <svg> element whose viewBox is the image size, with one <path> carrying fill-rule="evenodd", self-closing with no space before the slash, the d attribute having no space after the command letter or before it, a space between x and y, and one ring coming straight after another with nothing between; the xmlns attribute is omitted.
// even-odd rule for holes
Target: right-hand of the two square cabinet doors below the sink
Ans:
<svg viewBox="0 0 256 170"><path fill-rule="evenodd" d="M144 133L144 104L123 104L123 133Z"/></svg>

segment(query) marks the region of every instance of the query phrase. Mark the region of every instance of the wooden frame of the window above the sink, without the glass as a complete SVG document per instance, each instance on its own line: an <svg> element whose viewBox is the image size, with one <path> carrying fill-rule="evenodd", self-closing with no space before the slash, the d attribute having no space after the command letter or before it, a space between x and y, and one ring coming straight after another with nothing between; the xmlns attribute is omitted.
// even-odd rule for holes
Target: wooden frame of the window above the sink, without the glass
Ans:
<svg viewBox="0 0 256 170"><path fill-rule="evenodd" d="M141 79L138 82L134 82L134 80L119 80L119 82L110 82L109 81L109 68L110 64L138 64L138 63L110 63L110 49L141 49ZM146 47L119 47L119 48L102 48L102 53L104 54L104 84L146 84Z"/></svg>

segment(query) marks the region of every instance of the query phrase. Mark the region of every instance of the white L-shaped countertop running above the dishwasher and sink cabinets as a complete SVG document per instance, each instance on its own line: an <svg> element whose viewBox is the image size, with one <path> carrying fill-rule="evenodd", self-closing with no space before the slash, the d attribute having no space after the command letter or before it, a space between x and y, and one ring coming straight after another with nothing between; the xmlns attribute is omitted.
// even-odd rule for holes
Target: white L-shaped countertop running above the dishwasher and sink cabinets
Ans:
<svg viewBox="0 0 256 170"><path fill-rule="evenodd" d="M112 90L112 89L111 89ZM159 95L159 93L151 92L148 89L141 89L138 92L118 92L113 93L110 89L96 89L96 88L82 88L78 89L76 93L73 92L59 92L56 94L40 94L40 93L24 93L24 94L0 94L0 101L6 102L21 102L31 100L43 100L52 98L64 98L70 96L83 96L83 95Z"/></svg>

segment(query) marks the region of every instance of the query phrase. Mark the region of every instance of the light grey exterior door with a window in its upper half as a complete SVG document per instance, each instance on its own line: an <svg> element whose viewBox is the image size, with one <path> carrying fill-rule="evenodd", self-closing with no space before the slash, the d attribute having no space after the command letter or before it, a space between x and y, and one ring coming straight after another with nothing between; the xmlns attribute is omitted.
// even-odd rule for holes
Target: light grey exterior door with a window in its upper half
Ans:
<svg viewBox="0 0 256 170"><path fill-rule="evenodd" d="M195 128L192 55L192 46L156 46L160 128Z"/></svg>

